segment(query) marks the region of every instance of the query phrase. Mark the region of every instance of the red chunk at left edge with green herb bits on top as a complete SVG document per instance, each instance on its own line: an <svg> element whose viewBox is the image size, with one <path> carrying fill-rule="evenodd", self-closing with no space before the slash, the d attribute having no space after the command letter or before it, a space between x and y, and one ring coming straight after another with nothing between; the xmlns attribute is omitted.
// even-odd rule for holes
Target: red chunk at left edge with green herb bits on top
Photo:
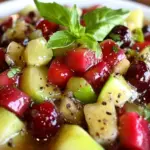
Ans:
<svg viewBox="0 0 150 150"><path fill-rule="evenodd" d="M11 73L11 69L6 70L0 74L0 86L6 85L18 85L19 82L19 75L16 73L13 76L9 76Z"/></svg>

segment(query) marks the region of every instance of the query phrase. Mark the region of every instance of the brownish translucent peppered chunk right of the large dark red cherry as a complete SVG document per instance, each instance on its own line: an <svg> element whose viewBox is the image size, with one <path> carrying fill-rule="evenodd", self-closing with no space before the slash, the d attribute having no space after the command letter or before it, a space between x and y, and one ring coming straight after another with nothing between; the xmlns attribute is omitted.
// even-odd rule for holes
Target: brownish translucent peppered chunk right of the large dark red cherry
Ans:
<svg viewBox="0 0 150 150"><path fill-rule="evenodd" d="M65 122L82 125L84 120L83 105L73 98L73 95L64 94L58 106Z"/></svg>

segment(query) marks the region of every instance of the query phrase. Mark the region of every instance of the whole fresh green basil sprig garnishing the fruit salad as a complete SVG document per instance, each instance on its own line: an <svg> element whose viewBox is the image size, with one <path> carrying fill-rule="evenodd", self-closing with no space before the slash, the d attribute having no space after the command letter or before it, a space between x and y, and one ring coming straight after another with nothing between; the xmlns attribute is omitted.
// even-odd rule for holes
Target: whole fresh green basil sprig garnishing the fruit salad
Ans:
<svg viewBox="0 0 150 150"><path fill-rule="evenodd" d="M65 48L77 43L95 51L97 57L101 55L98 41L102 41L113 27L123 23L129 14L129 11L123 9L98 8L83 17L86 23L86 27L83 27L76 5L70 9L55 2L34 2L42 17L67 27L66 30L57 31L50 37L48 48Z"/></svg>

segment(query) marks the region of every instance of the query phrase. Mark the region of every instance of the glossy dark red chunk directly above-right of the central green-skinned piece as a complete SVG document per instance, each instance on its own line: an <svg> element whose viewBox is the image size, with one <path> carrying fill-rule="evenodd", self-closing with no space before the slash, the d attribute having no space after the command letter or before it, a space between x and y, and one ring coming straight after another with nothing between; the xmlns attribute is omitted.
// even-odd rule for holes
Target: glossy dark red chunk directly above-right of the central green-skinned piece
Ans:
<svg viewBox="0 0 150 150"><path fill-rule="evenodd" d="M85 72L84 78L99 92L109 74L110 70L107 63L102 61Z"/></svg>

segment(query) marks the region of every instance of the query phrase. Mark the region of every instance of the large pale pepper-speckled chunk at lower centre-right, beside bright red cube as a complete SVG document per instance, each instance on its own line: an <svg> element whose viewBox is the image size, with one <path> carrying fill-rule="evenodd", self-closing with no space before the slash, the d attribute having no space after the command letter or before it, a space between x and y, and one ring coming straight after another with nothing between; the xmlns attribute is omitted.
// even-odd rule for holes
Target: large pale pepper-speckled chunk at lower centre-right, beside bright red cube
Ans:
<svg viewBox="0 0 150 150"><path fill-rule="evenodd" d="M114 142L118 136L117 116L112 100L84 106L85 120L90 135L100 144Z"/></svg>

